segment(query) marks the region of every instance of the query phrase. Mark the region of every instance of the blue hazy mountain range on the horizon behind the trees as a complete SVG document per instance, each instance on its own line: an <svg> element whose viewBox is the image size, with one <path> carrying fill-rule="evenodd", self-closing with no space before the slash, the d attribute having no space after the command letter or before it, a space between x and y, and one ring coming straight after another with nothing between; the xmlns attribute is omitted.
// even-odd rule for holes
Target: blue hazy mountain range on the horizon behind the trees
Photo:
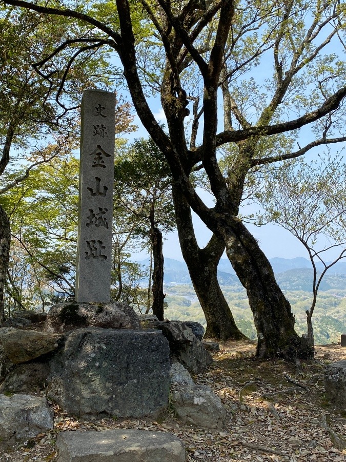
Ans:
<svg viewBox="0 0 346 462"><path fill-rule="evenodd" d="M282 290L311 292L313 270L309 260L303 257L292 259L274 257L270 258L269 261ZM149 265L149 258L139 263L147 266ZM321 268L322 266L319 267L319 269ZM220 285L241 287L230 261L226 258L220 259L217 276ZM166 284L191 284L186 263L172 258L165 258L164 280ZM338 262L324 276L320 290L327 291L330 289L345 288L346 262Z"/></svg>

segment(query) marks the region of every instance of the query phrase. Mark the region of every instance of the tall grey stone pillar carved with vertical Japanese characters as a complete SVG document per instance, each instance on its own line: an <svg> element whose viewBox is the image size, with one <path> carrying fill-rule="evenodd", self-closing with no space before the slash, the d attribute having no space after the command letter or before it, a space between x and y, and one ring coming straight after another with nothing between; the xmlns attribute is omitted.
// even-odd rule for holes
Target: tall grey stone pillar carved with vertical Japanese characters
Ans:
<svg viewBox="0 0 346 462"><path fill-rule="evenodd" d="M108 303L112 267L115 94L85 90L80 140L76 302Z"/></svg>

